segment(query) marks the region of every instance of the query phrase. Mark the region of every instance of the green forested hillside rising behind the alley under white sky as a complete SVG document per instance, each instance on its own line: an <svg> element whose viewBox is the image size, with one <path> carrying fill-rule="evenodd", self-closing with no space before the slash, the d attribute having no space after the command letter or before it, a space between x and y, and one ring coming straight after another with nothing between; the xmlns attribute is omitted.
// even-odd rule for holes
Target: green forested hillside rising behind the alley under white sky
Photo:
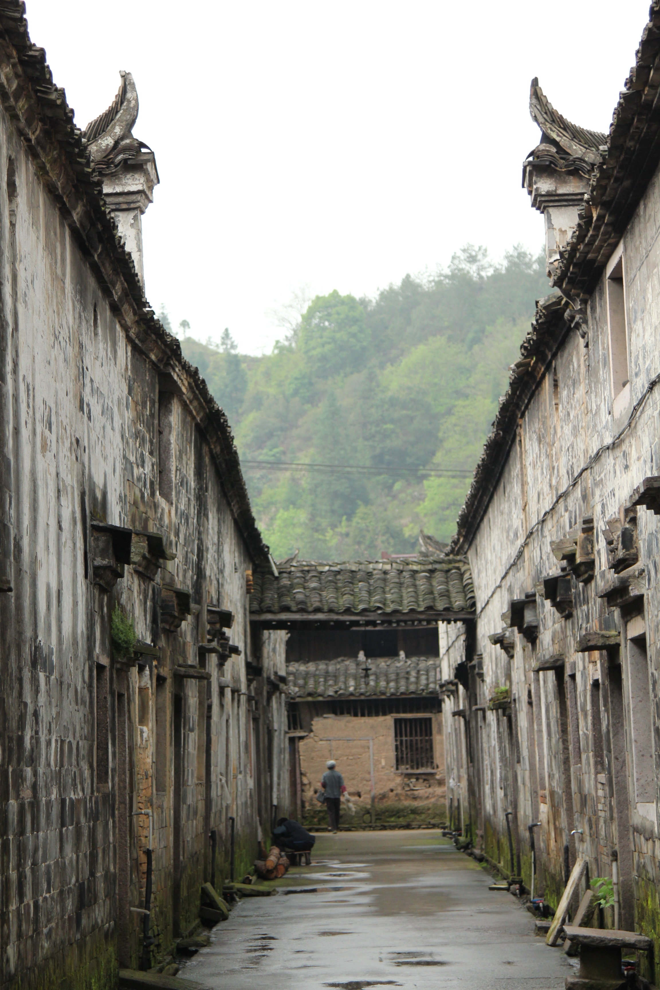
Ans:
<svg viewBox="0 0 660 990"><path fill-rule="evenodd" d="M448 270L376 299L317 297L263 357L236 353L229 331L220 348L182 340L229 416L276 559L408 552L421 527L451 538L549 291L544 268L519 248L493 266L465 247Z"/></svg>

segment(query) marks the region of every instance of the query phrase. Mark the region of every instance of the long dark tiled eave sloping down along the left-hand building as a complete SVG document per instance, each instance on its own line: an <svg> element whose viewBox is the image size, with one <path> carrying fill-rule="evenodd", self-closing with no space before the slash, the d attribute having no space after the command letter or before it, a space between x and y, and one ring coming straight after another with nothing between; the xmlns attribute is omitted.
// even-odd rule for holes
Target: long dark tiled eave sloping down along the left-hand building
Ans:
<svg viewBox="0 0 660 990"><path fill-rule="evenodd" d="M30 40L25 11L23 0L0 0L0 102L95 270L118 322L134 346L176 380L209 442L250 555L255 561L266 560L268 547L252 515L227 417L144 298L133 258L118 237L66 94L52 81L45 49Z"/></svg>

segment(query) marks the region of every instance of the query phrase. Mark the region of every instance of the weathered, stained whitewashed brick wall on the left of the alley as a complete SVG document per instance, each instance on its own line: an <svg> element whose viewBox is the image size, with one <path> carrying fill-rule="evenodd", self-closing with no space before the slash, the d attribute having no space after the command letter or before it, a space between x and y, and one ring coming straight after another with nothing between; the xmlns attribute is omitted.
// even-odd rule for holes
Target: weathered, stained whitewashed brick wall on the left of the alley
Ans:
<svg viewBox="0 0 660 990"><path fill-rule="evenodd" d="M4 111L0 175L0 985L111 986L141 950L135 812L153 813L158 953L197 921L210 830L219 884L230 817L246 865L288 808L284 634L250 637L252 559L190 381L132 345ZM95 522L157 531L176 556L105 590ZM168 582L191 603L169 630ZM116 605L157 655L118 660ZM198 654L210 605L234 614L224 664Z"/></svg>

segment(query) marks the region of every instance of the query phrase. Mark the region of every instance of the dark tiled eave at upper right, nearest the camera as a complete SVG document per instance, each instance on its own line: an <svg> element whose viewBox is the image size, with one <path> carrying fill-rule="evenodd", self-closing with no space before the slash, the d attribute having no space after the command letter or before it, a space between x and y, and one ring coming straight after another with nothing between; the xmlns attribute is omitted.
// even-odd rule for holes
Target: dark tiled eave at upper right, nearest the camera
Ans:
<svg viewBox="0 0 660 990"><path fill-rule="evenodd" d="M584 208L560 249L553 285L589 298L660 163L660 0L653 0L635 64L614 108L607 150L592 174Z"/></svg>

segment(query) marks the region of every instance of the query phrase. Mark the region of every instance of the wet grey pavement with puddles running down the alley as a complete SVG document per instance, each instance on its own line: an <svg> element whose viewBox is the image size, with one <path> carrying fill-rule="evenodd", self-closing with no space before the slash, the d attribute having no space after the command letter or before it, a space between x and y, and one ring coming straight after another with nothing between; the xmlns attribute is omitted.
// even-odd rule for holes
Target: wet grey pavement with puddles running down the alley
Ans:
<svg viewBox="0 0 660 990"><path fill-rule="evenodd" d="M242 900L179 975L213 990L563 988L567 956L492 882L439 832L322 834L311 866Z"/></svg>

